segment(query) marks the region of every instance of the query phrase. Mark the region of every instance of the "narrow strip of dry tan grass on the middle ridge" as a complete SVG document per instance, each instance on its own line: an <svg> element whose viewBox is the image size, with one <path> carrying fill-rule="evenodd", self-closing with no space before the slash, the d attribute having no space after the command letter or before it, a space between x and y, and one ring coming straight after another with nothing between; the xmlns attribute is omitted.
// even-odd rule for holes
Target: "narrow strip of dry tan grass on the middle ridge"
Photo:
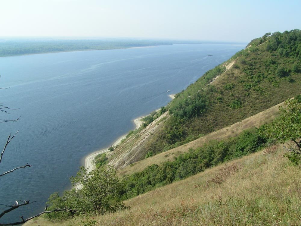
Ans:
<svg viewBox="0 0 301 226"><path fill-rule="evenodd" d="M240 134L243 130L259 127L262 124L265 124L269 121L272 121L279 114L279 106L283 106L284 103L280 103L278 105L273 106L272 108L268 108L265 111L259 112L256 115L253 115L249 118L246 118L240 122L237 122L231 126L222 128L213 133L209 133L208 135L201 137L197 140L191 141L190 143L184 144L182 146L170 149L166 152L162 152L158 155L152 156L147 159L143 159L139 162L136 162L132 167L119 168L117 170L117 174L119 176L123 176L126 174L131 174L134 172L142 171L149 165L152 164L160 164L161 162L172 161L175 156L182 154L183 152L188 152L188 149L196 149L202 146L204 143L207 143L209 140L223 140L229 137L235 137Z"/></svg>

